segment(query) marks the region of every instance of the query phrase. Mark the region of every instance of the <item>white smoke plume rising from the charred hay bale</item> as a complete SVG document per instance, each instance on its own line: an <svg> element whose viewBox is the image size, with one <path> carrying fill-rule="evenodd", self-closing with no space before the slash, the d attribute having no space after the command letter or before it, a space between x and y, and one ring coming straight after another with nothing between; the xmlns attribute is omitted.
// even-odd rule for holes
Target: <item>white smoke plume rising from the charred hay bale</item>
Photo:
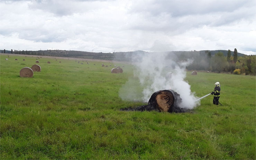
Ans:
<svg viewBox="0 0 256 160"><path fill-rule="evenodd" d="M192 60L177 62L176 56L170 56L170 53L133 54L132 64L135 69L131 79L137 79L138 82L129 79L120 89L119 96L123 100L148 102L154 92L172 89L182 98L180 107L193 109L200 102L194 102L198 97L191 92L190 85L184 80L185 67L191 63ZM138 87L142 94L135 93Z"/></svg>

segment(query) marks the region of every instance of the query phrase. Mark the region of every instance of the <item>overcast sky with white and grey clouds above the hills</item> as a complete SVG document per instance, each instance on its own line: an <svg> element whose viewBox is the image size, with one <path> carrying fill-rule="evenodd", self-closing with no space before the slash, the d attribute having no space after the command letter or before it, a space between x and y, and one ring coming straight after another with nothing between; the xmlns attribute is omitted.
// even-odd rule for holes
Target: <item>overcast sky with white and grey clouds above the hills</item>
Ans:
<svg viewBox="0 0 256 160"><path fill-rule="evenodd" d="M0 0L0 49L256 54L256 0Z"/></svg>

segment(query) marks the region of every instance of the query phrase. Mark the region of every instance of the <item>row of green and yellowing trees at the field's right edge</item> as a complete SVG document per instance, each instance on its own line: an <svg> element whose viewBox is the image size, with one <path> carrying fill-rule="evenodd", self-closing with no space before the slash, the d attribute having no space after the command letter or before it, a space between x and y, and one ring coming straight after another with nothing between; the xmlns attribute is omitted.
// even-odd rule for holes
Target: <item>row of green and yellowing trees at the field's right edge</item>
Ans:
<svg viewBox="0 0 256 160"><path fill-rule="evenodd" d="M228 50L227 56L219 52L212 57L210 51L205 51L205 54L195 57L193 64L187 68L190 70L210 70L218 73L230 72L234 74L256 75L255 66L256 56L238 57L237 49L235 48L234 54L231 55L231 51ZM235 70L236 72L234 72Z"/></svg>

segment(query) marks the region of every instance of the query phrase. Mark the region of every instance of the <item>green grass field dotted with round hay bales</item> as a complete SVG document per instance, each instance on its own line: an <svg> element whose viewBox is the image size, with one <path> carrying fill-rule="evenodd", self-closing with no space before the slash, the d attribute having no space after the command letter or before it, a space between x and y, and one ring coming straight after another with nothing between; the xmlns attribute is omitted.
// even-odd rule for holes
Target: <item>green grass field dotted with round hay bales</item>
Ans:
<svg viewBox="0 0 256 160"><path fill-rule="evenodd" d="M43 57L42 72L22 78L36 56L5 58L0 159L256 159L255 76L188 72L198 97L220 82L223 106L210 95L192 113L127 112L120 109L145 104L118 96L133 76L129 64ZM102 63L124 65L124 73Z"/></svg>

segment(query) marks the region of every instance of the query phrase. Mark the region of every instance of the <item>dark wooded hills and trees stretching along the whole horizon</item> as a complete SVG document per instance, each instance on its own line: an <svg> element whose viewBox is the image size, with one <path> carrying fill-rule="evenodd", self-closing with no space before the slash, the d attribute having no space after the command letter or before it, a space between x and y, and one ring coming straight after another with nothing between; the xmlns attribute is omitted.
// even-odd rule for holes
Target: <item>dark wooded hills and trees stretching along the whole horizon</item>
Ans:
<svg viewBox="0 0 256 160"><path fill-rule="evenodd" d="M217 52L218 51L218 52ZM177 60L183 61L193 59L193 63L187 66L189 70L207 70L211 72L229 72L232 74L256 75L256 56L244 55L237 52L235 48L231 54L231 50L205 50L205 51L172 51L167 52L170 58L176 55ZM212 52L212 53L211 53ZM225 54L224 54L224 53ZM114 53L93 53L74 50L1 50L1 53L36 55L36 56L58 56L58 57L76 57L89 59L104 59L104 60L121 60L131 61L132 56L136 54L145 54L145 51L130 51L130 52L114 52ZM156 53L158 54L158 53ZM238 56L239 55L239 56Z"/></svg>

